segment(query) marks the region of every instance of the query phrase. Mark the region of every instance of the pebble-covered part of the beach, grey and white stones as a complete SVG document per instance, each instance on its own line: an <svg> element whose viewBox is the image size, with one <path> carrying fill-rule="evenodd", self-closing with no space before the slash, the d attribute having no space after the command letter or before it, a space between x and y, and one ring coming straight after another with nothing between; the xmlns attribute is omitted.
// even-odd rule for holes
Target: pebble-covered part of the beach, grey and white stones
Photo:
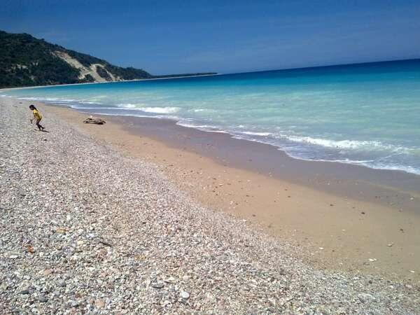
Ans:
<svg viewBox="0 0 420 315"><path fill-rule="evenodd" d="M413 284L314 269L155 165L0 110L1 314L420 314Z"/></svg>

